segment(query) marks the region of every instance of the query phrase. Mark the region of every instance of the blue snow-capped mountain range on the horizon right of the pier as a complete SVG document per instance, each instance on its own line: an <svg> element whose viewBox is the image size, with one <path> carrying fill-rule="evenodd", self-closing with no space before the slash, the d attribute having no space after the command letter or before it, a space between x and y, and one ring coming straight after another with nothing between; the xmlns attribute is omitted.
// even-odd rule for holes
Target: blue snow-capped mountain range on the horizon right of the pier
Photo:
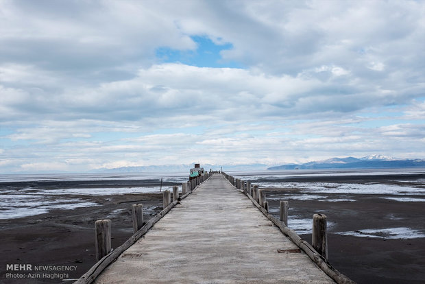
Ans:
<svg viewBox="0 0 425 284"><path fill-rule="evenodd" d="M287 164L276 167L269 167L267 169L358 169L383 167L425 167L425 160L400 159L382 155L371 155L363 158L330 158L324 161L314 161L303 164Z"/></svg>

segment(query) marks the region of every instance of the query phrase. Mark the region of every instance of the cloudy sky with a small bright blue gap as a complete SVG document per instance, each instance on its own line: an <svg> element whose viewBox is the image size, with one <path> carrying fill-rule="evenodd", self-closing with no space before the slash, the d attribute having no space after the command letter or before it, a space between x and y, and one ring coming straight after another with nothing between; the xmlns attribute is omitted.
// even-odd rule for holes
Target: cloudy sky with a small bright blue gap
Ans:
<svg viewBox="0 0 425 284"><path fill-rule="evenodd" d="M425 158L425 1L0 0L0 172Z"/></svg>

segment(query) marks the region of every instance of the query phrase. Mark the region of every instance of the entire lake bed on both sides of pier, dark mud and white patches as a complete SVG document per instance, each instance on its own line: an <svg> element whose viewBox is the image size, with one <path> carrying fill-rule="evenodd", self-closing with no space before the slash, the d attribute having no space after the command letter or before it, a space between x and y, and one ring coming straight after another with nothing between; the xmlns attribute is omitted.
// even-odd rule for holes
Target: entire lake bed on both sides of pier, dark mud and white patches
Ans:
<svg viewBox="0 0 425 284"><path fill-rule="evenodd" d="M423 283L425 170L233 172L267 189L270 212L289 201L289 227L311 241L313 213L328 216L329 261L358 283ZM93 224L112 220L112 247L132 235L130 206L145 221L162 209L162 190L182 174L0 176L1 277L8 263L94 263ZM57 283L58 279L26 279ZM25 283L25 279L8 283Z"/></svg>

